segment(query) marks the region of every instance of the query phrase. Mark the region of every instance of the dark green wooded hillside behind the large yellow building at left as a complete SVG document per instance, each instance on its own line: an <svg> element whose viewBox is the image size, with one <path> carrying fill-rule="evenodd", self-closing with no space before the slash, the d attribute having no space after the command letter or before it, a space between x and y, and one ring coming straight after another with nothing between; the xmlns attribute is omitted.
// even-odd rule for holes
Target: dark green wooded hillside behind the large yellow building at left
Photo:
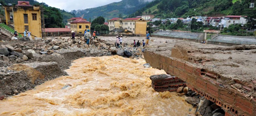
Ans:
<svg viewBox="0 0 256 116"><path fill-rule="evenodd" d="M40 5L39 2L35 0L24 0L28 1L31 5ZM0 0L0 3L2 5L7 5L8 3L12 3L13 5L16 5L18 3L18 0ZM70 19L71 17L75 17L74 14L71 14L69 12L66 12L61 9L57 9L55 7L49 7L47 4L43 3L43 6L45 8L45 27L64 27L67 23L67 19Z"/></svg>

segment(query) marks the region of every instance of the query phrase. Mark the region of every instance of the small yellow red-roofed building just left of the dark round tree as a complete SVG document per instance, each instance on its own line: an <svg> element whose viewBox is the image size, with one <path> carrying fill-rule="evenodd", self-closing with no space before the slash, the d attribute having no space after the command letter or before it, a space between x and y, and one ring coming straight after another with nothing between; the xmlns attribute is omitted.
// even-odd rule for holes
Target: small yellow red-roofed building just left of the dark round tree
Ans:
<svg viewBox="0 0 256 116"><path fill-rule="evenodd" d="M91 23L86 19L77 19L70 22L70 30L76 32L76 34L84 34L85 29L91 29Z"/></svg>

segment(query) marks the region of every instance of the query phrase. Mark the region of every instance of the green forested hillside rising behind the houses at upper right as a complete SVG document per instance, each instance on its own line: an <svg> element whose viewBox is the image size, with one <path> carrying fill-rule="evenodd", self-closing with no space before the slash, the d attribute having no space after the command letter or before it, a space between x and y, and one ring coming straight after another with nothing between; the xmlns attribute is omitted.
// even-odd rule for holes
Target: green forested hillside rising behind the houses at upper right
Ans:
<svg viewBox="0 0 256 116"><path fill-rule="evenodd" d="M250 3L251 0L155 0L129 17L143 14L161 18L248 15L255 9L249 9Z"/></svg>

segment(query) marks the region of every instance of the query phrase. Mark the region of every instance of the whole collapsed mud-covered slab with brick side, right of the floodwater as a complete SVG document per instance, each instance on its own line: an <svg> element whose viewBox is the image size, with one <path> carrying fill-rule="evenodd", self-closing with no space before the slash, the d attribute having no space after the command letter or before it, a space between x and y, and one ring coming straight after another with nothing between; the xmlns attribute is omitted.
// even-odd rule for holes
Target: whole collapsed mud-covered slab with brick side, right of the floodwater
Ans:
<svg viewBox="0 0 256 116"><path fill-rule="evenodd" d="M225 116L256 114L256 46L219 47L177 42L146 48L144 58L225 110ZM161 91L161 90L159 90Z"/></svg>

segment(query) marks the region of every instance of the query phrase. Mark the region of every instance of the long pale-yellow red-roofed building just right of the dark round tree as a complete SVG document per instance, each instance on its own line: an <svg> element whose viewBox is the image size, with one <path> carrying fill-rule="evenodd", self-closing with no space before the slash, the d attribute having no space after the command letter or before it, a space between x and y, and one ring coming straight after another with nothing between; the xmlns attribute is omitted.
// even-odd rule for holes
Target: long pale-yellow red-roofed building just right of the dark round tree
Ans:
<svg viewBox="0 0 256 116"><path fill-rule="evenodd" d="M113 18L107 20L107 22L110 31L114 29L127 29L128 31L131 31L132 34L140 36L146 35L148 21L142 18Z"/></svg>

